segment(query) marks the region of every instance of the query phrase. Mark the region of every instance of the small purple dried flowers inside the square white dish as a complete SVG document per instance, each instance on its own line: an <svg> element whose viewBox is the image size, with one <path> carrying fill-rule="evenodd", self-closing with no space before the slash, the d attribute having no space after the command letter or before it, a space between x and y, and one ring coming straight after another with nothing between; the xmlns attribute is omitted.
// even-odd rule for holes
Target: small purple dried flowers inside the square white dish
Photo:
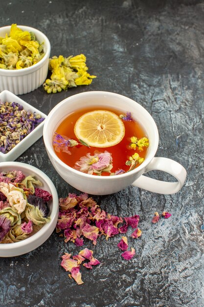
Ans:
<svg viewBox="0 0 204 307"><path fill-rule="evenodd" d="M17 102L0 102L0 152L8 153L44 120Z"/></svg>

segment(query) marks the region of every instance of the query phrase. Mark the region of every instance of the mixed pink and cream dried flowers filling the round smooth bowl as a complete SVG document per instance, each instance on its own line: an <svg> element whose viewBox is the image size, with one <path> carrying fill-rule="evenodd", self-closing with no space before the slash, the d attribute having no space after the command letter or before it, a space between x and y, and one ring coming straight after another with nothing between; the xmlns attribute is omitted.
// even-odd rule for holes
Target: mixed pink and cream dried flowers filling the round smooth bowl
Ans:
<svg viewBox="0 0 204 307"><path fill-rule="evenodd" d="M21 171L0 173L0 243L22 241L50 221L52 195L36 185L41 181Z"/></svg>

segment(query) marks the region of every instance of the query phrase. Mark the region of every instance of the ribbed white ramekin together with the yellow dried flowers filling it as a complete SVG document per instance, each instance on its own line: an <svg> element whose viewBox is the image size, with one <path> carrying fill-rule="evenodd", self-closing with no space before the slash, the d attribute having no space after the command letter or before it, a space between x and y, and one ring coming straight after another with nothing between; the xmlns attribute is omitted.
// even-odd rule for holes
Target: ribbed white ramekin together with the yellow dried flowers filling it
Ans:
<svg viewBox="0 0 204 307"><path fill-rule="evenodd" d="M0 92L29 93L43 84L49 65L50 42L29 27L0 27Z"/></svg>

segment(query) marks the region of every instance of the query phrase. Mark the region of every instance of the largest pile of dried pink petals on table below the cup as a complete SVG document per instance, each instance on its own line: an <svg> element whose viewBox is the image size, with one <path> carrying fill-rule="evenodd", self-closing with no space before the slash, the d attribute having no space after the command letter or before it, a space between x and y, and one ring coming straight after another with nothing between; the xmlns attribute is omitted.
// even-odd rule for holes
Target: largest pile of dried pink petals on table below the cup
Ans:
<svg viewBox="0 0 204 307"><path fill-rule="evenodd" d="M87 194L76 196L70 194L59 199L60 212L57 232L64 232L65 242L78 239L90 239L93 244L99 236L105 235L108 240L119 233L126 233L128 227L136 228L139 215L121 218L106 213ZM76 245L84 243L77 239Z"/></svg>

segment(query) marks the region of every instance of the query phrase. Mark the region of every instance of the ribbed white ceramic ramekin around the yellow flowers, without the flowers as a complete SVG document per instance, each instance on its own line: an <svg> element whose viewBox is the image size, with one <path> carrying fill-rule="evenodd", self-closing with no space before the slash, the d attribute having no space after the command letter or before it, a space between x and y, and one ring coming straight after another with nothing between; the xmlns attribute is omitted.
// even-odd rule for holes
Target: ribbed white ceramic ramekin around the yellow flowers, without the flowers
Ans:
<svg viewBox="0 0 204 307"><path fill-rule="evenodd" d="M0 27L0 37L9 34L11 26ZM40 43L44 42L44 57L35 65L7 70L0 68L0 92L9 90L16 95L29 93L43 84L49 65L50 42L44 33L30 26L18 26L23 31L33 32Z"/></svg>

